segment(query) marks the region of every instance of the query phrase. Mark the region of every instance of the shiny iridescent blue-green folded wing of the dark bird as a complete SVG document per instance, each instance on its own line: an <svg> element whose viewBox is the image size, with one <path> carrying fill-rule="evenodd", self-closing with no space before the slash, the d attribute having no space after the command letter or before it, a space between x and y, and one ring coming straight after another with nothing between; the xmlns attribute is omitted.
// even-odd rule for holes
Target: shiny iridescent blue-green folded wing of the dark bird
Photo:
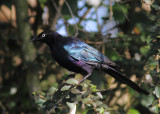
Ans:
<svg viewBox="0 0 160 114"><path fill-rule="evenodd" d="M111 66L116 64L110 61L106 56L101 54L97 49L89 46L82 41L70 42L64 46L70 56L84 62L103 63Z"/></svg>

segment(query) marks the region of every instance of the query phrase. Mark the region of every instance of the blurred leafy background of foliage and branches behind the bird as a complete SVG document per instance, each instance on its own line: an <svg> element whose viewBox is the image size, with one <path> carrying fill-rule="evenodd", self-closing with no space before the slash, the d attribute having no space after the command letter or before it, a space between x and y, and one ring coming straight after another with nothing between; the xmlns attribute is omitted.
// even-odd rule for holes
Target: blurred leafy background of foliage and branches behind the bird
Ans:
<svg viewBox="0 0 160 114"><path fill-rule="evenodd" d="M52 59L46 45L29 42L34 35L46 28L63 35L78 35L81 40L119 64L119 70L123 74L151 93L149 96L138 94L109 75L94 71L88 82L80 85L84 87L83 84L87 84L81 91L88 92L88 88L92 89L85 94L86 99L82 97L77 100L77 114L159 113L160 2L99 1L0 2L1 113L42 113L43 103L46 99L51 99L55 89L67 75L68 71ZM100 8L103 16L99 16ZM94 93L104 89L109 91L105 94ZM50 91L52 94L48 94ZM76 94L77 91L71 93ZM92 96L99 98L95 101ZM58 112L67 113L69 107L72 106L62 103Z"/></svg>

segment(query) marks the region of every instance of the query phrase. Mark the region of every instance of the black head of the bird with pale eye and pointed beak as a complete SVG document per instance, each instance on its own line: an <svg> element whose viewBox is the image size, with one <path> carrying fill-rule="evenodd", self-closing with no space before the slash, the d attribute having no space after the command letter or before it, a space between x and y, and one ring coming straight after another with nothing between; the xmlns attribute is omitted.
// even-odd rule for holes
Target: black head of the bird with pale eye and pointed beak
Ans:
<svg viewBox="0 0 160 114"><path fill-rule="evenodd" d="M61 35L58 34L57 32L53 30L46 30L41 32L38 36L34 37L30 41L31 42L40 41L48 44L59 37L61 37Z"/></svg>

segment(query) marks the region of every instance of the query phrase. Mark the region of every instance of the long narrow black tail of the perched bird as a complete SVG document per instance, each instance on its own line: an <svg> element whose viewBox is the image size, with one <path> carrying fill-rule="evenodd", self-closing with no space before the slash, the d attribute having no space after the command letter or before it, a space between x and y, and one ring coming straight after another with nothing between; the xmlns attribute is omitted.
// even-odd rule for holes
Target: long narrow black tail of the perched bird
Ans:
<svg viewBox="0 0 160 114"><path fill-rule="evenodd" d="M108 73L109 75L111 75L113 78L115 78L116 80L120 81L121 83L129 85L131 88L133 88L137 92L143 93L145 95L149 95L150 94L148 91L140 88L136 83L134 83L133 81L131 81L127 77L123 76L121 73L119 73L115 69L111 68L110 66L108 66L108 65L102 65L102 69L106 73Z"/></svg>

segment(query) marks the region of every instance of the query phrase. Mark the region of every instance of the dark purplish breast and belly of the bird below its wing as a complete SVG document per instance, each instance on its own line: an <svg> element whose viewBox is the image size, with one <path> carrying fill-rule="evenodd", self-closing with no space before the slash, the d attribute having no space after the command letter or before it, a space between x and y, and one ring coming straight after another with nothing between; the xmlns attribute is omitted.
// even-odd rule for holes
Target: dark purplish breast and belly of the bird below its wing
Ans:
<svg viewBox="0 0 160 114"><path fill-rule="evenodd" d="M63 45L58 48L54 46L51 48L52 56L59 65L76 73L88 74L92 72L93 69L91 66L70 56Z"/></svg>

